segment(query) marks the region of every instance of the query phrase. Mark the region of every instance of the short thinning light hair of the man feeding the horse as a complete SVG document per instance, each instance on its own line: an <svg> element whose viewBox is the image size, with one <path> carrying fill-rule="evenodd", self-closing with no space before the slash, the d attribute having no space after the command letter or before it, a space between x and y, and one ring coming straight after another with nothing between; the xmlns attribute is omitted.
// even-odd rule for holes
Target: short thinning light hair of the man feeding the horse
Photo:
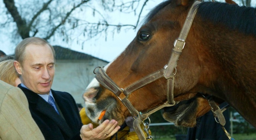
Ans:
<svg viewBox="0 0 256 140"><path fill-rule="evenodd" d="M52 49L53 58L55 61L55 50L52 47L52 45L50 45L46 40L41 39L40 37L29 37L29 38L23 39L21 42L19 42L19 44L15 48L15 60L18 61L21 64L21 66L23 66L23 61L25 60L25 57L26 57L24 50L30 44L49 45L49 47Z"/></svg>

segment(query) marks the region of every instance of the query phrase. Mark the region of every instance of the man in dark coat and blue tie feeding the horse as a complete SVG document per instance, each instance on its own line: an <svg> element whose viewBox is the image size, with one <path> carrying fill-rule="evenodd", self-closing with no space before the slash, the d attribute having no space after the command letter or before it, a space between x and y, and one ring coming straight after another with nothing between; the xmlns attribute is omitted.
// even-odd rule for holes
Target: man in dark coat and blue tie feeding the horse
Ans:
<svg viewBox="0 0 256 140"><path fill-rule="evenodd" d="M94 140L115 134L120 128L115 120L106 120L96 129L92 129L92 125L83 126L73 97L51 89L54 65L55 51L44 39L24 39L15 49L14 66L22 81L18 87L25 93L31 115L45 139Z"/></svg>

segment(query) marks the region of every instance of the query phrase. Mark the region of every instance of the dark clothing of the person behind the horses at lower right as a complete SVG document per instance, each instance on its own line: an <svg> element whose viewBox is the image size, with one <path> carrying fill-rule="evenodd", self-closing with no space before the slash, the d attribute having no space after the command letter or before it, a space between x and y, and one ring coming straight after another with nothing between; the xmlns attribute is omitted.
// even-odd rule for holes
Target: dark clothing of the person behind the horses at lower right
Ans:
<svg viewBox="0 0 256 140"><path fill-rule="evenodd" d="M220 105L225 106L226 102ZM226 120L225 129L229 132L230 117L228 109L223 112ZM199 117L196 121L196 127L189 128L186 140L228 140L222 126L214 119L212 111L207 112Z"/></svg>

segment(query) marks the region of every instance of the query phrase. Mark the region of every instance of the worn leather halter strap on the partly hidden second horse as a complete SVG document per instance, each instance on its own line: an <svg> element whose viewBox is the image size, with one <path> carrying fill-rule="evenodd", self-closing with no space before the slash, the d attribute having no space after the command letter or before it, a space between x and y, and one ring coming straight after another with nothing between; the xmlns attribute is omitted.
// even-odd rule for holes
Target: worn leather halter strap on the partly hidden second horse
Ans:
<svg viewBox="0 0 256 140"><path fill-rule="evenodd" d="M227 130L224 127L226 120L225 120L225 117L223 116L223 112L227 109L226 106L220 109L219 106L216 105L216 103L214 102L211 96L208 96L208 97L205 97L204 95L202 96L206 98L209 105L211 106L211 111L215 118L215 121L221 125L225 135L228 137L229 140L235 140L234 138L231 138L230 134L227 132Z"/></svg>

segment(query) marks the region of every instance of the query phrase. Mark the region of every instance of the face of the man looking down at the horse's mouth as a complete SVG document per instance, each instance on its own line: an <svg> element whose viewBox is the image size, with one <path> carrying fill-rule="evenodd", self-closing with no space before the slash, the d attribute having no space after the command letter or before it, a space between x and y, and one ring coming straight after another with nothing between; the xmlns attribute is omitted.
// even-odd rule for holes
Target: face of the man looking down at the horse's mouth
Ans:
<svg viewBox="0 0 256 140"><path fill-rule="evenodd" d="M28 45L21 66L23 84L37 94L48 94L55 73L54 64L49 45Z"/></svg>

